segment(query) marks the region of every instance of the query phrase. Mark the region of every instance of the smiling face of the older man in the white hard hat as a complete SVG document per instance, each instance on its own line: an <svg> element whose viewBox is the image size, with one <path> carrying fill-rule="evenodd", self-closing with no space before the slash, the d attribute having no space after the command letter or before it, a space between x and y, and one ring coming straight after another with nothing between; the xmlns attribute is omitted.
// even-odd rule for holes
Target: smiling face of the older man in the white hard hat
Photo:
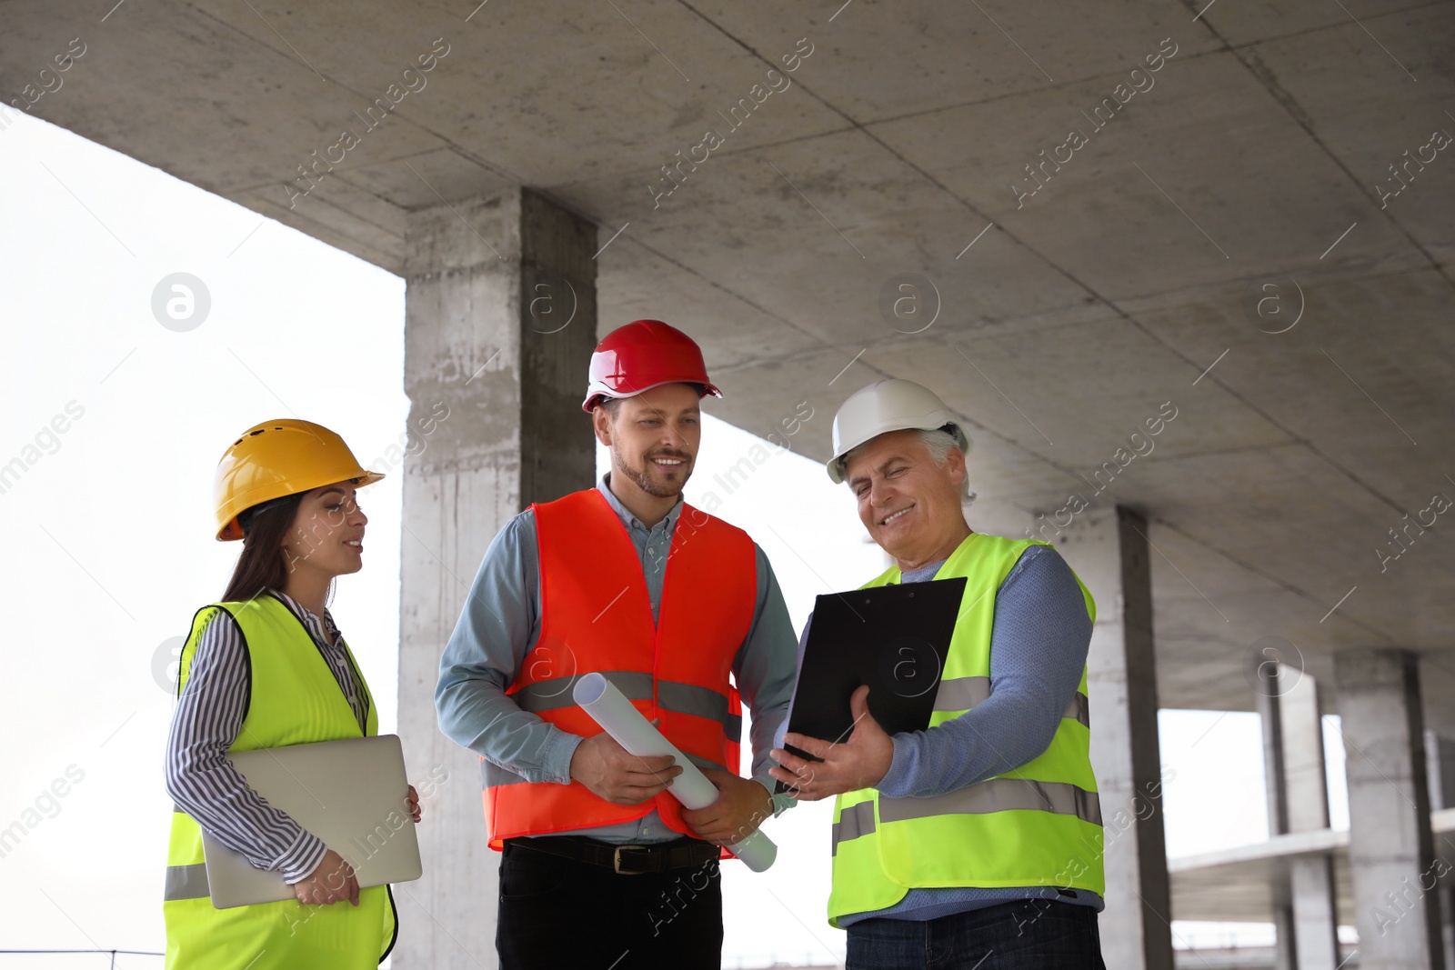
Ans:
<svg viewBox="0 0 1455 970"><path fill-rule="evenodd" d="M904 570L947 558L970 534L959 448L936 465L917 430L888 432L848 455L844 480L858 500L858 521Z"/></svg>

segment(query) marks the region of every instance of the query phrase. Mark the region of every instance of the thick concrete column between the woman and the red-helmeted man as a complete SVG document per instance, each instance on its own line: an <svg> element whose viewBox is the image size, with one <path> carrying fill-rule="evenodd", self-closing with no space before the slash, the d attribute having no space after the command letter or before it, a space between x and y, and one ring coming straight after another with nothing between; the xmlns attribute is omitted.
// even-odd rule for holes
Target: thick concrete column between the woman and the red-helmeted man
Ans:
<svg viewBox="0 0 1455 970"><path fill-rule="evenodd" d="M394 891L393 966L493 969L499 855L486 845L479 759L439 733L434 689L496 531L594 480L581 398L597 343L597 228L515 189L413 212L407 249L399 733L412 778L448 779L419 827L425 877Z"/></svg>

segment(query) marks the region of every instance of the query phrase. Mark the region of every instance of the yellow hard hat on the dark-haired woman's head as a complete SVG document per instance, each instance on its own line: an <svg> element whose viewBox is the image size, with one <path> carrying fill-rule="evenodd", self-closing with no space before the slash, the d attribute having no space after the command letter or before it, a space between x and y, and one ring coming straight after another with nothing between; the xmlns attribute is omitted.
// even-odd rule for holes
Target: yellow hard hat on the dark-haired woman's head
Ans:
<svg viewBox="0 0 1455 970"><path fill-rule="evenodd" d="M243 432L217 462L217 540L243 538L237 515L262 502L335 481L367 486L384 476L365 471L343 439L313 422L285 417Z"/></svg>

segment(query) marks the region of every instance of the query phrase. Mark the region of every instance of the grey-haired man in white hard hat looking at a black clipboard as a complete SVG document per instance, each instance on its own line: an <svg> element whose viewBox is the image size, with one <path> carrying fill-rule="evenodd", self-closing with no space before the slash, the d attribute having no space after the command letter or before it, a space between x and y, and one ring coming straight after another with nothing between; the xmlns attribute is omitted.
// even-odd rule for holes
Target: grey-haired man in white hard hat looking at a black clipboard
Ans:
<svg viewBox="0 0 1455 970"><path fill-rule="evenodd" d="M965 598L928 730L890 737L860 686L848 740L786 734L822 761L774 749L771 774L799 798L837 795L828 912L848 931L848 967L1104 970L1085 700L1096 605L1048 542L970 529L969 451L960 420L912 381L840 407L829 478L895 560L864 588L965 577Z"/></svg>

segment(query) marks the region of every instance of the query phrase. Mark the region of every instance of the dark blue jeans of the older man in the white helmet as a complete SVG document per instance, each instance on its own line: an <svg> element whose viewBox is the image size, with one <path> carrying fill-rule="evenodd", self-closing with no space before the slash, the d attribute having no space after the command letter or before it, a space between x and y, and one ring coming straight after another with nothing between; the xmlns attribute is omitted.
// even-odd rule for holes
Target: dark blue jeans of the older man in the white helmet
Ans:
<svg viewBox="0 0 1455 970"><path fill-rule="evenodd" d="M1043 899L848 928L845 970L1106 970L1096 910Z"/></svg>

